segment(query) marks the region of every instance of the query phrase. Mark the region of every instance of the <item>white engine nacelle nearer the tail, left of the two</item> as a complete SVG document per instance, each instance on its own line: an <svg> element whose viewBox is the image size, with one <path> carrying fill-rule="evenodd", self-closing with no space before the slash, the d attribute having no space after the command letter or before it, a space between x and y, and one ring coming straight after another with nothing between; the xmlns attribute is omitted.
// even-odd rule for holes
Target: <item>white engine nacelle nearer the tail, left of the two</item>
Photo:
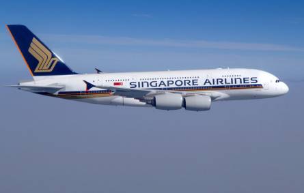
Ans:
<svg viewBox="0 0 304 193"><path fill-rule="evenodd" d="M177 93L165 93L156 95L152 105L161 110L178 110L182 108L182 95Z"/></svg>

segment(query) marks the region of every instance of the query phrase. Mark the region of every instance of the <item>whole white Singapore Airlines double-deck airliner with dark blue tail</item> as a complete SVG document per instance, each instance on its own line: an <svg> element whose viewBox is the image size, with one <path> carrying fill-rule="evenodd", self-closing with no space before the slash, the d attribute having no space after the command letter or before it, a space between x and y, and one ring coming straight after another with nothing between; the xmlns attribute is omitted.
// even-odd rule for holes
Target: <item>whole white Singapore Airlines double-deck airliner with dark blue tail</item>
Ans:
<svg viewBox="0 0 304 193"><path fill-rule="evenodd" d="M273 98L288 86L262 70L228 68L79 74L25 25L6 25L32 81L10 85L40 95L113 106L210 110L212 102Z"/></svg>

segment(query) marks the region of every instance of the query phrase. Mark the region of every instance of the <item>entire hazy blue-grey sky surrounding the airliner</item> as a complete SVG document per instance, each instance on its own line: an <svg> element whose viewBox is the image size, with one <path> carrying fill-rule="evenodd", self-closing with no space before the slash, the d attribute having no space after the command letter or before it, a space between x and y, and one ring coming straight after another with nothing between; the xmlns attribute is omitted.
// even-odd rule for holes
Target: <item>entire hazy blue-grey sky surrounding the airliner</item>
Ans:
<svg viewBox="0 0 304 193"><path fill-rule="evenodd" d="M3 1L11 85L31 76L5 24L27 25L80 73L258 68L290 92L196 113L3 88L0 192L303 192L304 3Z"/></svg>

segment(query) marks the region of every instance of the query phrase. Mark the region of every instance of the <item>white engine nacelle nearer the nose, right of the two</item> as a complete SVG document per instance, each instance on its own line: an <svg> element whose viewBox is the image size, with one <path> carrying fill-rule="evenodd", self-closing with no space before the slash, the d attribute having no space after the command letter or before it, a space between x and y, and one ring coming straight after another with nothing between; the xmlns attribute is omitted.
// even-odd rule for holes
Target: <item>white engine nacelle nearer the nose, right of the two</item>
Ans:
<svg viewBox="0 0 304 193"><path fill-rule="evenodd" d="M186 110L209 110L211 107L211 98L206 95L194 95L184 98L183 106Z"/></svg>

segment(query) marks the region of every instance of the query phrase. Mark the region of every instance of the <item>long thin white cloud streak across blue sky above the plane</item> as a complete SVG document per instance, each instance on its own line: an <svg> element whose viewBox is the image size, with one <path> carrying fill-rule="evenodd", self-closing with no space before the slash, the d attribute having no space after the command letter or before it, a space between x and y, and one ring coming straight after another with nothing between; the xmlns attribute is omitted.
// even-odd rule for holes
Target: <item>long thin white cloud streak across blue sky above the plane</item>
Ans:
<svg viewBox="0 0 304 193"><path fill-rule="evenodd" d="M81 44L121 45L121 46L160 46L184 48L212 48L222 50L260 50L260 51L300 51L304 48L280 44L215 42L208 40L156 40L127 37L109 37L101 35L46 35L50 41Z"/></svg>

